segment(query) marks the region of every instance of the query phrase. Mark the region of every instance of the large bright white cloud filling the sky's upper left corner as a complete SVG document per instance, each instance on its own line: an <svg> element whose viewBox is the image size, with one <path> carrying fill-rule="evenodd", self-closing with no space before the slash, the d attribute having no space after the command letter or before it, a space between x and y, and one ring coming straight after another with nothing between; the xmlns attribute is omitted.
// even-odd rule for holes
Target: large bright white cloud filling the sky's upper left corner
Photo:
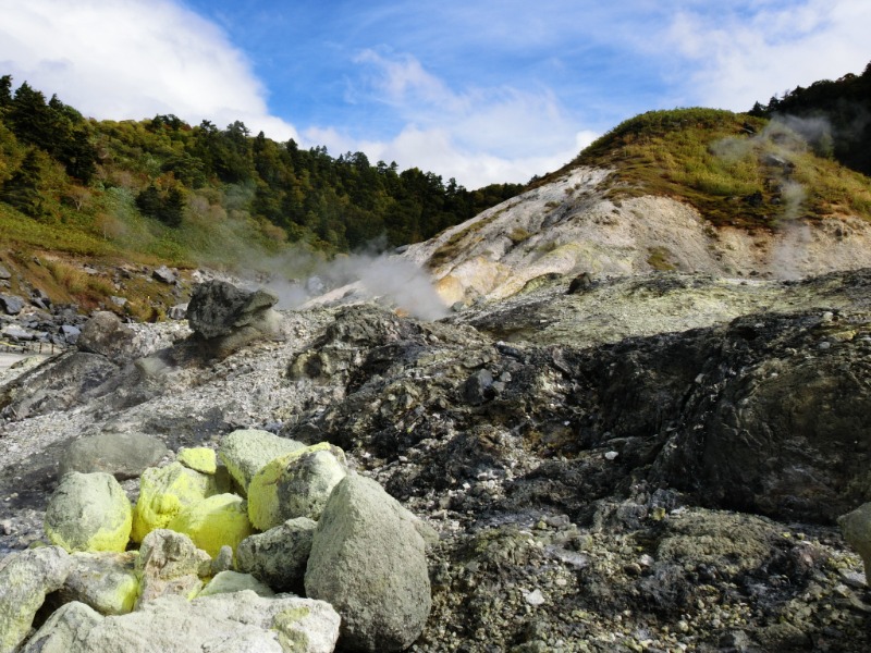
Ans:
<svg viewBox="0 0 871 653"><path fill-rule="evenodd" d="M241 120L277 139L245 56L212 23L169 0L0 0L0 71L98 119L174 113L219 127Z"/></svg>

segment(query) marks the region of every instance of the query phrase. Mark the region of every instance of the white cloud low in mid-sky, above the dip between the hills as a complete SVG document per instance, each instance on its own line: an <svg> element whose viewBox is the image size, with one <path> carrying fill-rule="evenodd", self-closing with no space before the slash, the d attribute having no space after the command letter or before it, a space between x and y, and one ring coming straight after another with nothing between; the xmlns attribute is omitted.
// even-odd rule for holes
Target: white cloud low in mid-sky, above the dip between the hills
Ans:
<svg viewBox="0 0 871 653"><path fill-rule="evenodd" d="M352 97L381 104L404 126L382 140L354 138L334 128L305 133L333 152L360 150L373 162L414 165L477 188L526 182L560 168L596 137L577 132L555 94L544 87L536 93L506 86L461 93L407 53L365 50L355 62L364 74Z"/></svg>

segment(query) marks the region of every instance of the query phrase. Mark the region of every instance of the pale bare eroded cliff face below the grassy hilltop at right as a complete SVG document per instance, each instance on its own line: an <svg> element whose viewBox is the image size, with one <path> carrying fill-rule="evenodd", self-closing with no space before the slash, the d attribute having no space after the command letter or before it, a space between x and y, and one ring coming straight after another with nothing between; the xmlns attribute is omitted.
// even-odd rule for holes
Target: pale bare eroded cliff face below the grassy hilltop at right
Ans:
<svg viewBox="0 0 871 653"><path fill-rule="evenodd" d="M612 200L613 188L610 171L576 168L403 256L432 271L447 304L502 299L548 275L674 270L799 279L871 264L871 224L857 217L714 227L688 204L653 195Z"/></svg>

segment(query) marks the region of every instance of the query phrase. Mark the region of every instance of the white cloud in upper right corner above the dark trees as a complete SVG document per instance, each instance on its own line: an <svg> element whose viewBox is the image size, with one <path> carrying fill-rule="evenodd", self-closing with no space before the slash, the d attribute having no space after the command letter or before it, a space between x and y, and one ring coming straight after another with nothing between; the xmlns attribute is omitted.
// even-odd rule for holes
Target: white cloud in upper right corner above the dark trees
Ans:
<svg viewBox="0 0 871 653"><path fill-rule="evenodd" d="M861 73L871 59L867 0L765 2L757 9L749 15L719 4L674 16L663 44L690 65L688 98L746 111L799 85Z"/></svg>

